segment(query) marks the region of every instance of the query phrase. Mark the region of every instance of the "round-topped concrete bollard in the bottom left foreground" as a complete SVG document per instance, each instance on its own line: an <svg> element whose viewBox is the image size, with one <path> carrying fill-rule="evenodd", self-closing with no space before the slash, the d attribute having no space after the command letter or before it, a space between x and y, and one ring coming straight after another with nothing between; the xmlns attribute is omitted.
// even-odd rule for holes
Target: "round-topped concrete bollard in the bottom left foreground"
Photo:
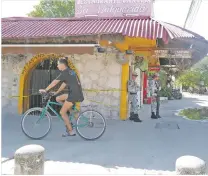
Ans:
<svg viewBox="0 0 208 176"><path fill-rule="evenodd" d="M14 175L43 175L44 151L40 145L26 145L14 155Z"/></svg>

